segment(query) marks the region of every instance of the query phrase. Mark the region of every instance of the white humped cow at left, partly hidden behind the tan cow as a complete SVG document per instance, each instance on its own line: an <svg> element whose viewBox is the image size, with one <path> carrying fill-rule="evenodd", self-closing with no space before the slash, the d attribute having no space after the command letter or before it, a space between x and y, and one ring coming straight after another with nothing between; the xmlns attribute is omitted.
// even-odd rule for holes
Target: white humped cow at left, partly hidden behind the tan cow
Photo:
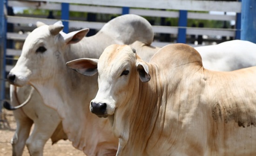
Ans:
<svg viewBox="0 0 256 156"><path fill-rule="evenodd" d="M40 93L43 103L58 112L48 108L47 119L53 122L47 125L42 116L46 114L40 111L41 108L47 109L47 107L42 106L41 102L30 101L31 104L27 106L28 109L25 113L35 112L38 114L31 118L26 114L27 117L32 120L38 118L38 120L34 120L34 124L38 127L52 127L50 127L51 131L37 129L45 135L38 136L43 137L41 140L36 137L28 139L29 151L32 156L42 156L45 141L52 135L54 127L60 124L61 119L63 130L75 148L83 150L88 156L115 156L118 139L113 136L108 120L95 118L89 112L89 106L84 105L84 102L89 102L97 92L96 76L84 78L80 74L75 74L73 70L67 69L66 62L81 57L98 58L110 44L133 44L135 41L140 41L135 45L142 47L145 47L144 44L150 45L154 38L152 27L146 19L129 14L112 19L92 37L84 37L88 29L68 34L62 32L62 29L63 25L56 23L42 25L32 31L25 40L17 64L8 75L8 79L13 85L30 84L34 86ZM154 53L157 50L154 47L150 47L150 49ZM87 88L78 85L78 82L83 83ZM36 93L33 94L32 99L35 98L34 95ZM32 105L34 107L31 107ZM19 115L17 114L15 117L18 116L17 119L27 118L25 114ZM49 117L51 115L53 115L52 119ZM18 122L19 124L23 124L22 119ZM30 121L26 127L31 124ZM18 127L22 126L18 125ZM23 144L28 135L28 130L24 131L26 136L21 137L24 139L20 140ZM34 135L38 135L38 131L35 131ZM20 133L15 135L20 135ZM15 140L19 140L19 137L14 136L14 138L13 143L15 144L18 142ZM21 148L23 149L23 147ZM33 149L31 149L32 147Z"/></svg>

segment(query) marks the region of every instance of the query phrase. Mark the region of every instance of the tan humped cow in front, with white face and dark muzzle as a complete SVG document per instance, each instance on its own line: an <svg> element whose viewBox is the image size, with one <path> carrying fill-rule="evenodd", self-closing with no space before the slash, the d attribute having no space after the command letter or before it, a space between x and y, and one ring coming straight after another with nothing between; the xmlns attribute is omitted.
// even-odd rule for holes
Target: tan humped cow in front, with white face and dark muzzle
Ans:
<svg viewBox="0 0 256 156"><path fill-rule="evenodd" d="M163 47L149 63L111 45L99 60L67 65L98 72L90 109L112 122L116 156L256 156L256 67L204 69L185 44Z"/></svg>

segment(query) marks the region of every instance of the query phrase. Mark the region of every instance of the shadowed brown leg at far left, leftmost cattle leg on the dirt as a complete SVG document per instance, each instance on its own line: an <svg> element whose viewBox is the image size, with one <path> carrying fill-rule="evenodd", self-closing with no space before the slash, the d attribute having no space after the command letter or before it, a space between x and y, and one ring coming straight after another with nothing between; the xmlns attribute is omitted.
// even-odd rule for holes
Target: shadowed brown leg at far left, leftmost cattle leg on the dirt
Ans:
<svg viewBox="0 0 256 156"><path fill-rule="evenodd" d="M11 140L13 156L22 156L33 121L29 118L16 119L17 128Z"/></svg>

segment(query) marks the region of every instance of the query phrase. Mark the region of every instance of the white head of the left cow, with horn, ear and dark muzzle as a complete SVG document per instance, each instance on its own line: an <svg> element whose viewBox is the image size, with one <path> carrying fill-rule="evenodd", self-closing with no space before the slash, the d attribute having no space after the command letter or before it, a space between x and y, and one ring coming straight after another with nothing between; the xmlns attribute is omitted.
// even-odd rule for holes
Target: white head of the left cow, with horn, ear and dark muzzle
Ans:
<svg viewBox="0 0 256 156"><path fill-rule="evenodd" d="M62 53L68 49L67 45L79 42L89 31L82 29L66 34L62 32L61 21L54 25L38 22L37 26L27 36L18 62L7 75L13 85L24 86L31 81L52 78L54 68L66 63Z"/></svg>

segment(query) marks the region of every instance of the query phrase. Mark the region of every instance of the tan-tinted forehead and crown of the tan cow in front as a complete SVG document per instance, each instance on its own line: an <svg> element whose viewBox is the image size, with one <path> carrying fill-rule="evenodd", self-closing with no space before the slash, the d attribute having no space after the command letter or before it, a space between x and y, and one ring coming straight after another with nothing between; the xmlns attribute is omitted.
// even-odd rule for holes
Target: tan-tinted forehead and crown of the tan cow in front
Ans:
<svg viewBox="0 0 256 156"><path fill-rule="evenodd" d="M135 64L136 54L128 45L110 45L102 53L98 62L99 74L111 72L114 74L120 69Z"/></svg>

